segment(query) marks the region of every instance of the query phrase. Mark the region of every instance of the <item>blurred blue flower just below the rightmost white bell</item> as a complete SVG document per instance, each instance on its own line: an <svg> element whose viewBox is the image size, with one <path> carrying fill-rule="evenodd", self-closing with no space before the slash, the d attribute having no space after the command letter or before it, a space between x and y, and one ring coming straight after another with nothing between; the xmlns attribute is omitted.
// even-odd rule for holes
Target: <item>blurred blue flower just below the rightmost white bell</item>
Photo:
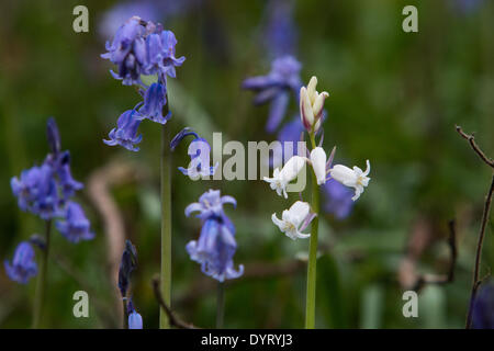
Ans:
<svg viewBox="0 0 494 351"><path fill-rule="evenodd" d="M324 210L337 219L345 219L353 208L353 192L341 183L330 179L324 184L326 202Z"/></svg>

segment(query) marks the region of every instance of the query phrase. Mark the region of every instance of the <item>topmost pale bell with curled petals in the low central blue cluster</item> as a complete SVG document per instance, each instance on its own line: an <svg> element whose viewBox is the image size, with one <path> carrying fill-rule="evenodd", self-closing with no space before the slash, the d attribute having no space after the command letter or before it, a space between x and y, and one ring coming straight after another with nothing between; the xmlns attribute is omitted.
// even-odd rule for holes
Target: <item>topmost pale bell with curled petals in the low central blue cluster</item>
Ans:
<svg viewBox="0 0 494 351"><path fill-rule="evenodd" d="M186 216L190 216L194 212L199 212L197 217L205 220L211 216L221 217L225 213L223 211L224 204L232 204L237 206L237 201L233 196L221 196L220 190L210 189L207 192L199 197L199 202L191 203L186 207Z"/></svg>

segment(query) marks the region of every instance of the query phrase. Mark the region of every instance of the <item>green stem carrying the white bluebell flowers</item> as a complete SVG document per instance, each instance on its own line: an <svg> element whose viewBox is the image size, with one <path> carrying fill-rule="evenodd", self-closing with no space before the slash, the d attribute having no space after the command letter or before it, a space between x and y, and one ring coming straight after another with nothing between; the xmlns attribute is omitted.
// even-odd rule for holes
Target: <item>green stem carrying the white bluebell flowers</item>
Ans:
<svg viewBox="0 0 494 351"><path fill-rule="evenodd" d="M315 148L315 136L311 133L311 144ZM308 242L308 265L307 265L307 293L305 299L305 329L315 328L315 295L316 295L316 264L317 264L317 235L319 215L319 188L317 179L312 171L312 211L316 217L312 220L311 238Z"/></svg>

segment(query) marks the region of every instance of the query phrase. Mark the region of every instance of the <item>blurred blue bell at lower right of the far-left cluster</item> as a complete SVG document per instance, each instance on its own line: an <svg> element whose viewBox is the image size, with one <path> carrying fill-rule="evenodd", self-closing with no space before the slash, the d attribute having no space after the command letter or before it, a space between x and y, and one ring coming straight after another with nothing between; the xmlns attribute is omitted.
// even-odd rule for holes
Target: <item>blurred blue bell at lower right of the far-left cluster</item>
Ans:
<svg viewBox="0 0 494 351"><path fill-rule="evenodd" d="M94 233L90 231L91 225L86 218L82 207L74 201L67 203L64 219L57 220L56 227L67 240L74 244L94 238Z"/></svg>

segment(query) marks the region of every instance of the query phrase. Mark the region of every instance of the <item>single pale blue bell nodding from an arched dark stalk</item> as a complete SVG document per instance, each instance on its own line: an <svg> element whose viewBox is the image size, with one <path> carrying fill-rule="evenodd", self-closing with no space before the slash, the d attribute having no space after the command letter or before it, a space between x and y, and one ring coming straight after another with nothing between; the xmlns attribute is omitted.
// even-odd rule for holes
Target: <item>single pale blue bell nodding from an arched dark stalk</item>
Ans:
<svg viewBox="0 0 494 351"><path fill-rule="evenodd" d="M213 176L218 163L210 166L211 146L206 139L195 138L189 145L190 165L189 168L179 167L178 169L192 179L198 177Z"/></svg>

